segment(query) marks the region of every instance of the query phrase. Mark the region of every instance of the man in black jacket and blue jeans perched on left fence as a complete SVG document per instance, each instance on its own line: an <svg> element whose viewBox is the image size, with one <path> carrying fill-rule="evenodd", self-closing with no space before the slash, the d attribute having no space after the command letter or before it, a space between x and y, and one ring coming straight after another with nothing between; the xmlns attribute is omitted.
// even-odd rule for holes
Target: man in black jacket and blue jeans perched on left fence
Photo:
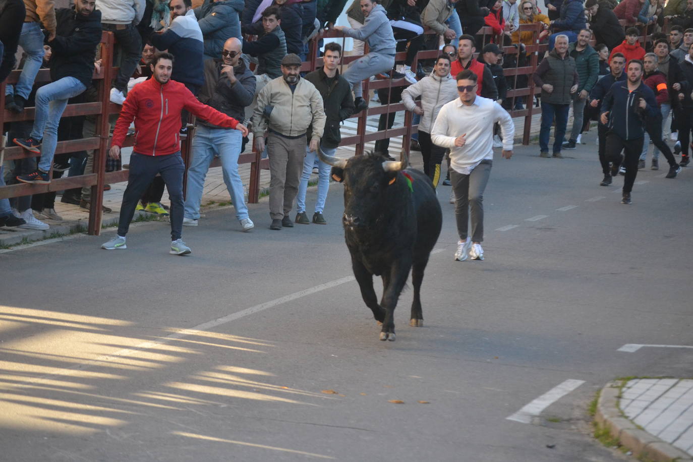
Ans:
<svg viewBox="0 0 693 462"><path fill-rule="evenodd" d="M55 146L58 145L58 123L67 100L78 96L91 85L96 45L101 40L101 12L94 10L94 0L76 0L73 8L55 11L56 35L49 46L53 82L36 91L36 115L28 138L15 144L41 154L37 170L19 175L23 183L49 184Z"/></svg>

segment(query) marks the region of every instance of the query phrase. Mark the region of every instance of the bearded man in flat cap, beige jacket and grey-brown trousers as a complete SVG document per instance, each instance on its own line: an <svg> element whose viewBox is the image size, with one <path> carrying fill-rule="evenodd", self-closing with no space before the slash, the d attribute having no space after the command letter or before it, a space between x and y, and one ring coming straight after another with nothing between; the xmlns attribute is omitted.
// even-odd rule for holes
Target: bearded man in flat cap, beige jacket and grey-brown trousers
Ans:
<svg viewBox="0 0 693 462"><path fill-rule="evenodd" d="M301 78L301 58L290 53L281 60L281 77L270 80L258 94L253 113L256 150L270 158L270 229L294 226L290 218L298 192L306 132L312 130L310 151L317 150L325 127L322 96L315 85Z"/></svg>

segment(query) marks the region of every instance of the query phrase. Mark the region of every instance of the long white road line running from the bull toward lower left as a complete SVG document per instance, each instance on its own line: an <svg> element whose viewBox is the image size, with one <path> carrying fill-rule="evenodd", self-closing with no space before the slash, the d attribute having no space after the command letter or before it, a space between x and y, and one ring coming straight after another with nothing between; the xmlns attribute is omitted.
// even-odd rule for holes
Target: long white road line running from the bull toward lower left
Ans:
<svg viewBox="0 0 693 462"><path fill-rule="evenodd" d="M198 324L197 326L192 327L192 328L181 329L178 332L174 332L173 334L167 335L166 337L162 337L159 340L145 341L141 344L137 344L137 345L132 346L130 348L123 348L122 350L117 350L115 353L111 353L110 355L98 356L94 359L90 359L88 361L75 364L72 367L64 368L63 371L60 373L40 375L39 377L32 377L32 378L29 378L27 380L24 380L23 382L15 382L15 383L11 384L10 387L16 387L16 386L23 385L23 384L31 384L34 382L34 380L42 380L42 379L46 379L49 377L67 377L69 375L74 375L74 374L78 373L79 371L84 371L85 369L87 369L91 366L103 365L104 362L109 362L109 361L112 361L112 360L117 359L117 358L122 357L122 356L130 355L132 353L137 353L139 350L146 350L148 348L152 348L155 346L167 344L169 341L182 339L183 337L187 337L188 335L196 335L197 332L200 332L201 330L208 330L211 328L215 328L217 326L221 326L222 324L225 324L225 323L228 323L231 321L236 321L236 319L246 317L249 314L255 314L257 312L267 310L268 308L274 308L277 305L281 305L281 304L287 303L289 301L294 301L296 299L301 299L304 296L312 295L312 294L315 294L316 292L320 292L322 290L331 289L332 287L337 287L337 285L342 285L344 283L349 283L351 281L356 281L356 278L354 278L353 276L345 276L344 278L339 278L339 279L335 279L334 281L329 281L329 282L324 283L324 284L315 285L315 286L309 287L308 289L305 289L305 290L299 290L299 292L294 292L292 294L281 296L281 297L279 297L279 299L266 301L265 303L260 303L259 305L254 305L250 308L246 308L245 310L240 310L238 312L231 313L225 317L220 317L218 319L212 319L211 321L207 321L207 322L204 322L202 324Z"/></svg>

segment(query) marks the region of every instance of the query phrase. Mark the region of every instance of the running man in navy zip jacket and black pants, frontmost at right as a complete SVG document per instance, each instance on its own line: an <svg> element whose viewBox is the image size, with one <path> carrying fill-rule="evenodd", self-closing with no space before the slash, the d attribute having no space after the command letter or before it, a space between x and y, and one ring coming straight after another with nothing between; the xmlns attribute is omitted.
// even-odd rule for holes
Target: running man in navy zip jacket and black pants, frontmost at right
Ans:
<svg viewBox="0 0 693 462"><path fill-rule="evenodd" d="M626 177L623 181L622 204L631 203L631 190L638 175L638 159L642 152L645 118L658 114L657 100L652 90L642 82L642 61L628 63L625 82L615 82L602 101L601 121L608 125L606 136L606 159L613 163L613 172L618 171L621 151Z"/></svg>

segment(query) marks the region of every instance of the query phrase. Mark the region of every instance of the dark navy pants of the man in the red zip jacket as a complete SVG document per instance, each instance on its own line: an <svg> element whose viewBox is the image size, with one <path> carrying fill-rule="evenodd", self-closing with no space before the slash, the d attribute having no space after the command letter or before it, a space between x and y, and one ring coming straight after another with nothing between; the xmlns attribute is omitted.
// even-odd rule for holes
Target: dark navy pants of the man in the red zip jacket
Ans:
<svg viewBox="0 0 693 462"><path fill-rule="evenodd" d="M144 156L133 152L130 156L128 187L125 188L125 193L123 193L118 235L125 236L128 233L137 202L152 182L152 179L159 173L161 174L161 179L166 184L166 188L168 188L168 196L171 199L171 240L180 239L183 232L184 171L185 166L183 158L180 157L180 151L166 156Z"/></svg>

